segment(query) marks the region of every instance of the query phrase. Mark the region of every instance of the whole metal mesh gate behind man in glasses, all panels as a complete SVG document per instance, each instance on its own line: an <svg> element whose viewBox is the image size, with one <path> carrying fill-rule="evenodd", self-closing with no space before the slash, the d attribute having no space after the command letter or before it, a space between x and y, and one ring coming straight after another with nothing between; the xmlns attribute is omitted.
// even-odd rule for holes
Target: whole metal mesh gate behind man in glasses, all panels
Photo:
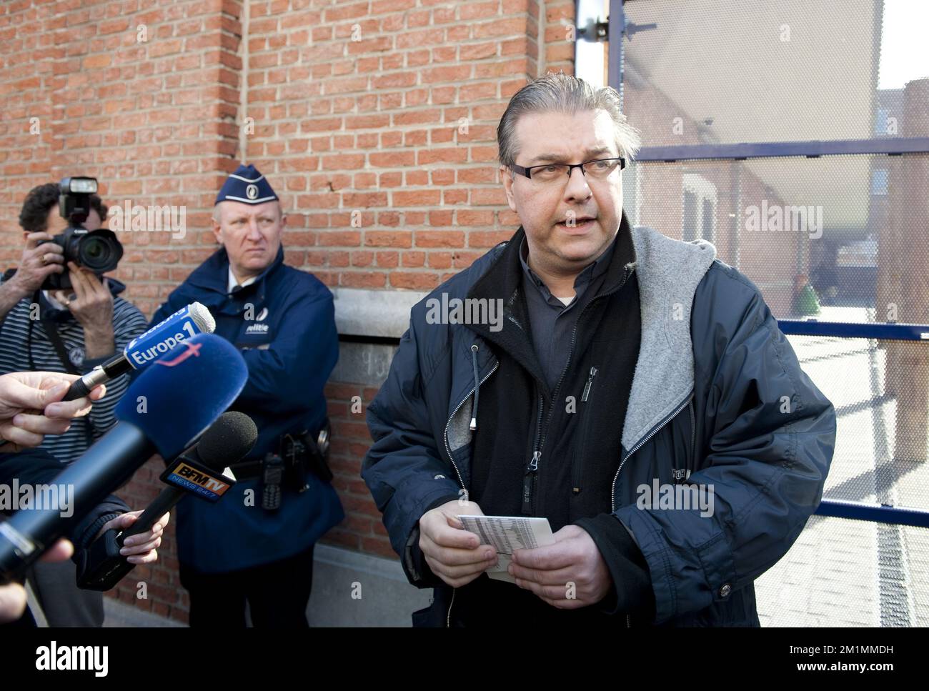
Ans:
<svg viewBox="0 0 929 691"><path fill-rule="evenodd" d="M623 110L647 150L929 137L929 53L895 82L891 10L625 2ZM630 222L712 241L777 318L929 324L929 154L662 158L623 172ZM929 343L790 341L836 408L824 498L929 510ZM815 515L756 589L767 626L929 625L929 530Z"/></svg>

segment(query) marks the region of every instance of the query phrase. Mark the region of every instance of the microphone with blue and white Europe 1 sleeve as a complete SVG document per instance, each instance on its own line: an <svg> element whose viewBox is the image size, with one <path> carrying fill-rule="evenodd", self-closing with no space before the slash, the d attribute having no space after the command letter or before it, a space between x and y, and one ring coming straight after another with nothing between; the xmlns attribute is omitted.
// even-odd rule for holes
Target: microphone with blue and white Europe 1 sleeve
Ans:
<svg viewBox="0 0 929 691"><path fill-rule="evenodd" d="M200 303L181 307L173 315L160 321L147 332L134 338L119 355L98 365L80 379L74 380L62 400L85 397L94 386L111 382L116 377L149 365L159 356L198 333L212 333L216 319Z"/></svg>

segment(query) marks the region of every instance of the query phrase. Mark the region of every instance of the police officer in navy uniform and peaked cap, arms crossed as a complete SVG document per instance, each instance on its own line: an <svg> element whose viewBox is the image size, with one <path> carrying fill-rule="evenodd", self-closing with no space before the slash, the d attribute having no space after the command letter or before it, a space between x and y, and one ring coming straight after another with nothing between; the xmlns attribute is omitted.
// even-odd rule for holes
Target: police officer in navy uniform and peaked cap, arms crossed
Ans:
<svg viewBox="0 0 929 691"><path fill-rule="evenodd" d="M242 352L248 383L231 410L259 436L222 502L177 505L181 584L191 626L307 626L314 543L345 516L324 462L323 385L338 359L333 294L283 263L286 216L268 180L240 165L213 214L220 249L168 296L157 323L197 301Z"/></svg>

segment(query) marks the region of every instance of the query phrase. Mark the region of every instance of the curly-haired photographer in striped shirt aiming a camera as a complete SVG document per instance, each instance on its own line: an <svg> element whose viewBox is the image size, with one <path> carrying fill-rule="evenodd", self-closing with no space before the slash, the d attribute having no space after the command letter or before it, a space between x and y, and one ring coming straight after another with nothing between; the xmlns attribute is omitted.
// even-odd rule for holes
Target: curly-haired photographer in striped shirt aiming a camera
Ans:
<svg viewBox="0 0 929 691"><path fill-rule="evenodd" d="M99 228L107 207L96 194L74 194L65 202L73 206L76 199L85 215L65 217L59 213L60 189L59 183L40 185L22 204L25 246L20 266L7 271L0 282L0 374L83 374L146 329L142 313L118 296L123 283L66 261L61 234L78 225ZM57 289L62 285L71 287ZM80 456L116 422L114 410L128 385L125 375L114 379L107 385L106 398L63 434L46 437L42 449L60 463ZM77 589L72 565L38 565L31 580L50 625L102 625L102 597Z"/></svg>

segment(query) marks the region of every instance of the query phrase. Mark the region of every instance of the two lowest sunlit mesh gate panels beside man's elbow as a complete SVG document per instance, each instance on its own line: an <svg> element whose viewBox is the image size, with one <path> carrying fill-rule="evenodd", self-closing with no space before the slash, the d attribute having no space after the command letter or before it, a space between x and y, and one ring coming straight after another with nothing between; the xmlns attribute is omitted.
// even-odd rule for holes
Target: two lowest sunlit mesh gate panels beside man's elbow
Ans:
<svg viewBox="0 0 929 691"><path fill-rule="evenodd" d="M929 509L927 346L791 336L801 366L836 409L824 499ZM915 364L898 377L887 346ZM913 419L907 411L922 410ZM756 581L770 626L926 626L929 530L813 516L790 552Z"/></svg>

